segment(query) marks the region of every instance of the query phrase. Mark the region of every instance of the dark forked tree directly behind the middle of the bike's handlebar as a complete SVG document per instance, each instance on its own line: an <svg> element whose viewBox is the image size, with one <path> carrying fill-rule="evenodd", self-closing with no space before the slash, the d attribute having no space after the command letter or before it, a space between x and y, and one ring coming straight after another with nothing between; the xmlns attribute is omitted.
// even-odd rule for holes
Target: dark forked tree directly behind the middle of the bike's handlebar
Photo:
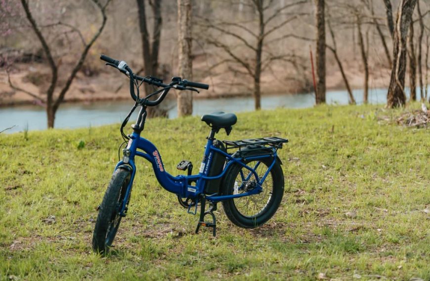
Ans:
<svg viewBox="0 0 430 281"><path fill-rule="evenodd" d="M161 16L161 0L149 0L149 5L152 8L154 16L153 30L152 30L152 43L150 43L150 36L147 28L147 18L145 11L145 0L136 0L138 15L139 15L139 29L140 37L142 40L142 55L143 55L143 72L144 75L157 76L158 72L158 54L160 51L160 36L161 28L163 25L163 18ZM153 89L151 85L144 84L145 93L149 95ZM153 97L156 99L157 97ZM148 116L167 116L167 110L163 107L152 106L147 109Z"/></svg>

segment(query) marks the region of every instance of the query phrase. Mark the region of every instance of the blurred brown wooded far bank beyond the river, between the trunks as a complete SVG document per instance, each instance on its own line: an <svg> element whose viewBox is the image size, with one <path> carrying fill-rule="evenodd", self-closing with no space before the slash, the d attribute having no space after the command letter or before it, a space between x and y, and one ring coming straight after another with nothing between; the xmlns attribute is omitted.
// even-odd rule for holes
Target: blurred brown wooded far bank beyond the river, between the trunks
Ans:
<svg viewBox="0 0 430 281"><path fill-rule="evenodd" d="M3 1L3 5L4 2ZM12 1L11 1L12 2ZM11 65L11 80L17 86L43 95L49 86L49 67L43 48L30 28L18 1L8 4L8 11L2 11L0 38L2 68ZM309 51L314 48L315 5L313 1L265 1L266 18L275 17L267 29L277 27L265 38L263 46L263 68L261 92L264 94L300 94L313 91ZM337 46L337 55L342 61L352 88L363 88L365 64L372 88L387 87L391 72L392 40L387 26L385 1L326 1L327 45ZM391 3L393 21L398 1ZM427 1L420 1L424 19L424 35L421 40L421 65L426 71L428 59L429 16ZM7 5L7 3L6 3ZM288 6L288 8L285 8ZM3 6L4 8L4 6ZM89 40L97 31L101 19L88 0L30 2L34 18L41 27L47 42L52 46L53 56L61 60L61 69L73 67L80 52L82 39ZM245 0L196 0L192 3L192 59L195 81L211 85L210 91L199 97L224 97L251 95L253 81L246 69L226 52L233 52L245 63L253 63L253 50L247 42L253 43L252 35L239 25L251 31L258 30L258 14L252 1ZM154 14L147 3L148 30L154 28ZM158 75L165 80L178 72L177 60L177 3L161 3L162 27L159 51ZM128 98L124 78L106 69L99 61L101 53L125 60L135 70L142 68L142 43L139 33L138 6L134 0L112 1L106 8L106 27L89 50L83 67L77 74L65 100L98 100ZM414 40L419 40L420 23L418 11L414 11ZM61 23L61 24L60 24ZM334 31L332 37L330 29ZM270 25L270 26L269 26ZM360 28L358 29L358 25ZM235 36L236 34L241 37ZM381 36L382 35L382 36ZM361 40L360 39L361 36ZM244 40L242 40L242 38ZM333 41L336 38L336 44ZM382 38L385 42L382 42ZM153 38L151 38L152 40ZM246 42L245 42L246 40ZM363 41L363 42L361 42ZM361 50L364 46L364 54ZM388 52L386 53L385 46ZM415 43L415 52L418 50ZM314 54L315 55L315 54ZM363 59L363 56L366 59ZM416 56L416 55L415 55ZM367 60L365 63L364 61ZM345 84L333 52L327 51L327 88L344 89ZM60 75L64 83L66 75ZM14 91L7 83L5 71L1 71L0 103L19 104L33 101L25 93Z"/></svg>

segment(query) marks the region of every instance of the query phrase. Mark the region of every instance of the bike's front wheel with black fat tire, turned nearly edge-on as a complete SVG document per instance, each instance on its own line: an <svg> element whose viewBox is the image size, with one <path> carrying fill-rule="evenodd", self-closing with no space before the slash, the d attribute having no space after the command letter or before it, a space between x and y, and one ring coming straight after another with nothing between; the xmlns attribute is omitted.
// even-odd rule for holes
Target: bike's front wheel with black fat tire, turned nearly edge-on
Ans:
<svg viewBox="0 0 430 281"><path fill-rule="evenodd" d="M95 222L92 236L92 248L95 252L106 253L120 226L120 208L126 196L131 173L124 168L118 168L112 175Z"/></svg>

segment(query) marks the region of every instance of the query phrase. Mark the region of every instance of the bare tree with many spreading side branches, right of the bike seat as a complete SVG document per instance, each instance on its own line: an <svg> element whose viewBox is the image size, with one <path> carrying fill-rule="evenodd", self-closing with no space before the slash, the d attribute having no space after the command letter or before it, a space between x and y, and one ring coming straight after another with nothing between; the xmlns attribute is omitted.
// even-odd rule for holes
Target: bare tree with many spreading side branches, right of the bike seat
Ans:
<svg viewBox="0 0 430 281"><path fill-rule="evenodd" d="M257 16L257 27L249 28L248 22L226 22L218 21L212 22L208 18L203 19L202 27L221 33L225 37L233 38L237 43L239 42L246 48L246 51L242 50L241 53L237 52L237 44L225 43L219 38L214 39L213 36L208 36L206 42L220 48L228 56L228 59L223 60L221 63L230 63L235 66L239 66L242 70L232 68L231 70L235 73L244 74L253 79L253 95L255 100L255 108L261 108L261 73L265 70L270 69L271 64L274 61L283 61L291 64L297 63L297 58L294 54L275 54L265 49L264 47L268 42L275 42L287 37L295 37L296 35L279 35L276 38L268 40L270 35L284 28L288 23L294 21L299 15L304 13L296 12L289 13L286 16L286 11L294 6L300 5L307 2L307 0L298 0L280 6L274 10L271 10L273 0L247 0L241 1L243 5L247 5L255 10ZM275 23L279 18L282 19ZM297 36L298 37L298 36ZM247 53L251 54L247 56ZM254 57L254 58L252 58ZM243 71L245 70L245 71Z"/></svg>

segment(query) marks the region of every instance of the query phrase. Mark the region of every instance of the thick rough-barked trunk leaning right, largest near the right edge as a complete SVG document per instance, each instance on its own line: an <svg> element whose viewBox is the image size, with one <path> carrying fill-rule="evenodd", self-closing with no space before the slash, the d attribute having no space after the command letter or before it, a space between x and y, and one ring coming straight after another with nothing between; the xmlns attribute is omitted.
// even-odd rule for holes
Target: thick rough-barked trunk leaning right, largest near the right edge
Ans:
<svg viewBox="0 0 430 281"><path fill-rule="evenodd" d="M406 102L404 93L406 72L406 38L417 0L401 0L397 10L393 36L393 66L387 92L387 107L402 106Z"/></svg>

